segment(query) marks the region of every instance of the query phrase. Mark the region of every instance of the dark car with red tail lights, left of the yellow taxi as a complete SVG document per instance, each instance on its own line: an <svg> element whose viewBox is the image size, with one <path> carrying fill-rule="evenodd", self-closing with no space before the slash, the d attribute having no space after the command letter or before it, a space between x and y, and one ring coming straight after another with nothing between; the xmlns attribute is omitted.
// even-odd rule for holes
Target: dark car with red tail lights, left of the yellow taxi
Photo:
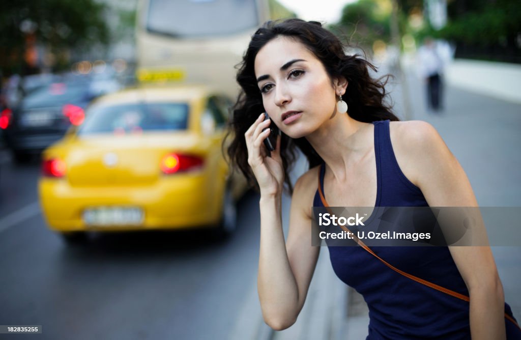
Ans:
<svg viewBox="0 0 521 340"><path fill-rule="evenodd" d="M3 117L3 137L15 161L27 161L62 138L71 125L80 125L84 108L99 94L92 82L83 80L53 82L30 92Z"/></svg>

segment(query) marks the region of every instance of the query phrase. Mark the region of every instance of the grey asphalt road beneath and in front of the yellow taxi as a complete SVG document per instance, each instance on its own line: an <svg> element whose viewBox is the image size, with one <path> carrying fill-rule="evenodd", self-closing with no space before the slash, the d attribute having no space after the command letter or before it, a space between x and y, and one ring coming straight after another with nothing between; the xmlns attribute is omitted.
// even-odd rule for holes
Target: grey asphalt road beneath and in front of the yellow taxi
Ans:
<svg viewBox="0 0 521 340"><path fill-rule="evenodd" d="M0 324L42 325L45 339L225 339L237 327L256 284L256 193L241 200L240 227L224 241L158 232L68 247L34 204L38 162L16 166L5 151L0 159Z"/></svg>

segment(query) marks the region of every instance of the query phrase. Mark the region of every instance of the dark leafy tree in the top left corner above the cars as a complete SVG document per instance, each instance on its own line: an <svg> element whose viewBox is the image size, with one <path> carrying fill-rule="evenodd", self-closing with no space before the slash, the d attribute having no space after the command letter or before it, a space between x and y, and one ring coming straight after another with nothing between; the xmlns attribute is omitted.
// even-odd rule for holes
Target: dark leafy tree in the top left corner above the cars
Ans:
<svg viewBox="0 0 521 340"><path fill-rule="evenodd" d="M17 0L0 5L0 67L4 76L27 66L34 44L46 46L59 61L70 48L107 44L105 5L94 0Z"/></svg>

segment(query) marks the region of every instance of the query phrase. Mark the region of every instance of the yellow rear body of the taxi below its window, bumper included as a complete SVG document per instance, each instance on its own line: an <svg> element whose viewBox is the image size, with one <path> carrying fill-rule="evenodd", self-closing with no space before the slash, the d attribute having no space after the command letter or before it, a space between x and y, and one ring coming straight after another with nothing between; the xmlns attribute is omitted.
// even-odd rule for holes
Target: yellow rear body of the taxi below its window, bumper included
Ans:
<svg viewBox="0 0 521 340"><path fill-rule="evenodd" d="M165 172L165 157L172 154L200 163ZM63 156L65 176L40 182L42 207L55 230L122 229L110 225L118 223L125 229L184 228L219 218L226 164L212 139L186 131L86 136L69 140ZM115 217L130 223L115 223Z"/></svg>

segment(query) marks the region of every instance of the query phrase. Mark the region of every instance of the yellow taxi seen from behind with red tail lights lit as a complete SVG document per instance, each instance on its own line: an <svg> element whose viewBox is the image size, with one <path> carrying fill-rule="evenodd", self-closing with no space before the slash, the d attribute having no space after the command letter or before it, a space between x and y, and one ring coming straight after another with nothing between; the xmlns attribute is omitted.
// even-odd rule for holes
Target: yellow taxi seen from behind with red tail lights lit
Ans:
<svg viewBox="0 0 521 340"><path fill-rule="evenodd" d="M245 179L222 151L230 101L203 86L106 95L43 153L49 227L86 232L215 227L229 234Z"/></svg>

